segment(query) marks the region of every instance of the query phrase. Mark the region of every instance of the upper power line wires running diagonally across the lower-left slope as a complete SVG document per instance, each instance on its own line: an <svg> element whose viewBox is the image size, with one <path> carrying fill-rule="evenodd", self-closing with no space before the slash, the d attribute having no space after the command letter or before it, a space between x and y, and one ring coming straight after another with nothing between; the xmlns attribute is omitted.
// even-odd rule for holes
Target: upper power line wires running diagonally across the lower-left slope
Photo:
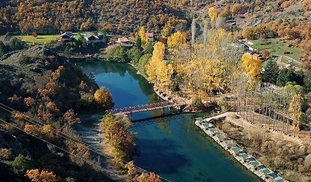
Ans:
<svg viewBox="0 0 311 182"><path fill-rule="evenodd" d="M3 105L4 107L9 108L9 109L15 111L16 113L21 114L23 119L25 119L25 120L27 120L27 121L29 121L29 122L31 122L31 123L33 123L33 124L35 124L35 125L41 127L41 128L44 128L44 126L47 126L46 124L44 124L44 123L42 123L42 122L40 122L40 121L38 121L38 120L36 120L36 119L30 117L30 116L27 116L27 115L25 115L25 114L23 114L23 113L20 113L20 112L18 112L17 110L15 110L15 109L13 109L13 108L11 108L11 107L9 107L9 106L7 106L7 105L1 103L1 102L0 102L0 105ZM16 113L14 113L14 112L12 112L12 111L6 109L6 108L3 108L3 107L1 107L1 106L0 106L0 108L4 109L4 110L6 110L6 111L8 111L8 112L10 112L10 113L12 113L12 114L16 114ZM30 119L32 119L32 120L34 120L34 121L40 123L40 124L43 125L43 126L41 126L41 125L39 125L39 124L37 124L37 123L35 123L35 122L33 122L33 121L31 121L31 120L29 120L29 119L23 117L23 116L26 116L26 117L28 117L28 118L30 118ZM129 162L126 162L126 161L124 161L124 160L122 160L122 159L120 159L120 158L116 158L116 159L119 159L119 160L120 160L120 161L118 161L118 160L116 160L116 159L114 159L114 158L112 158L112 157L110 157L110 156L104 155L103 153L100 153L100 152L96 151L96 150L99 150L99 149L97 149L97 148L95 148L95 147L93 147L93 146L91 146L91 145L88 145L88 144L86 144L85 142L83 142L83 141L81 141L81 140L79 140L79 139L76 139L76 138L74 138L74 137L72 137L72 136L70 136L70 135L68 135L68 134L66 134L66 133L57 131L56 129L54 129L54 128L52 128L52 127L49 127L49 128L51 128L52 130L56 131L56 132L51 131L51 132L53 132L54 134L59 135L59 136L65 138L65 139L67 139L67 140L69 140L69 141L71 141L71 142L74 142L75 144L77 144L77 145L79 145L79 146L84 147L84 148L86 148L86 146L88 146L88 147L92 148L92 149L89 148L89 150L91 150L91 151L93 151L93 152L95 152L95 153L97 153L97 154L99 154L99 155L102 155L102 156L104 156L104 157L106 157L106 158L108 158L108 159L110 159L110 160L115 160L115 161L117 161L118 163L120 163L120 164L122 164L122 165L124 165L124 164L121 163L120 161L124 162L125 164L128 164L128 163L129 163ZM61 134L59 134L59 133L61 133ZM68 136L69 138L72 138L72 139L74 139L74 140L76 140L76 141L78 141L78 142L81 142L82 144L84 144L84 145L86 145L86 146L84 146L84 145L82 145L82 144L80 144L80 143L78 143L78 142L76 142L76 141L73 141L73 140L67 138L66 136L63 136L62 134L63 134L63 135L66 135L66 136ZM93 149L96 149L96 150L93 150ZM147 172L147 173L151 174L150 171L147 171L147 170L145 170L145 169L143 169L143 168L140 168L140 167L138 167L137 165L134 165L134 166L137 168L136 170L137 170L138 172L141 172L141 171L138 170L138 169L140 169L140 170L142 170L142 171L144 171L144 172ZM171 182L171 181L169 181L169 180L167 180L167 179L165 179L165 178L162 178L162 177L160 177L160 178L163 179L163 180L165 180L165 181L167 181L167 182Z"/></svg>

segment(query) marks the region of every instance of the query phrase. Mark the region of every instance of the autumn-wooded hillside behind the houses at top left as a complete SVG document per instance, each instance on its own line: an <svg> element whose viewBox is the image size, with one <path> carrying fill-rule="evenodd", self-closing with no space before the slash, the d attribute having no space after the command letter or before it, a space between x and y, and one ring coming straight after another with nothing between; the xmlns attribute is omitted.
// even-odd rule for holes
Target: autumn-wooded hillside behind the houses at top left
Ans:
<svg viewBox="0 0 311 182"><path fill-rule="evenodd" d="M0 9L0 33L104 29L133 32L139 25L159 30L179 10L161 0L20 0ZM48 13L47 13L48 12Z"/></svg>

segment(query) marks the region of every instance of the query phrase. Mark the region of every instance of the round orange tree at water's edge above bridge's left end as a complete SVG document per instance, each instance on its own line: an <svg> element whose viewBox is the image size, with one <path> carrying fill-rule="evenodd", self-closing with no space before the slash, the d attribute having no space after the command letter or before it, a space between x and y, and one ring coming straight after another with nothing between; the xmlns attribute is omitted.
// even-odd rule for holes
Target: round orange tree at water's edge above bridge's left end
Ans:
<svg viewBox="0 0 311 182"><path fill-rule="evenodd" d="M96 90L94 98L96 102L104 109L109 109L114 106L114 102L112 101L112 94L104 86L102 86L99 90Z"/></svg>

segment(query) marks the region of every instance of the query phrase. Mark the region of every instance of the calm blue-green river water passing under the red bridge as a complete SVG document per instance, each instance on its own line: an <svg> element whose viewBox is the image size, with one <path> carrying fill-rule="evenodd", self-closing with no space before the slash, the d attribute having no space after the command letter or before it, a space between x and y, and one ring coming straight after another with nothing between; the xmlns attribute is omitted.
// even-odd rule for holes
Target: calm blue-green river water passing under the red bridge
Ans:
<svg viewBox="0 0 311 182"><path fill-rule="evenodd" d="M112 93L115 107L157 102L153 85L127 64L78 62L94 72L99 86ZM160 111L133 114L133 119L159 116ZM201 115L208 116L208 113ZM95 115L93 115L95 116ZM173 182L261 182L194 124L197 114L168 117L163 122L135 124L139 155L134 163ZM160 120L161 121L161 120Z"/></svg>

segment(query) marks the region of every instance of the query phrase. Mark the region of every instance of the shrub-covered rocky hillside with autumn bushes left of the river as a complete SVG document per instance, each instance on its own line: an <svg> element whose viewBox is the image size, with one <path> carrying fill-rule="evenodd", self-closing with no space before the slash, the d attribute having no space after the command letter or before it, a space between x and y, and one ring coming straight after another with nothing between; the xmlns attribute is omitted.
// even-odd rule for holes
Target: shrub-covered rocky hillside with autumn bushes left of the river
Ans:
<svg viewBox="0 0 311 182"><path fill-rule="evenodd" d="M104 93L103 105L95 93ZM0 104L0 171L7 174L1 179L29 181L27 169L46 169L49 182L109 181L92 165L89 148L72 141L80 139L72 129L80 122L74 110L113 106L111 94L98 91L80 67L46 46L5 54L0 60Z"/></svg>

